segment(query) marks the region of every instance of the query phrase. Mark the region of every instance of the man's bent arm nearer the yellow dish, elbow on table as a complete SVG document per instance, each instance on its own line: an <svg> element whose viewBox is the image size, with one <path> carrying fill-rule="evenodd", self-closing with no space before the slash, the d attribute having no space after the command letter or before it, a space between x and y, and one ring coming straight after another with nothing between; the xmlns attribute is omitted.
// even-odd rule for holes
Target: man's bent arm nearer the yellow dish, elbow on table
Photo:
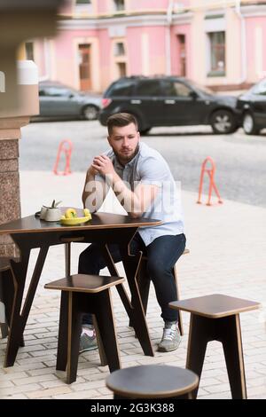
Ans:
<svg viewBox="0 0 266 417"><path fill-rule="evenodd" d="M95 179L97 174L98 171L90 166L82 192L83 207L90 209L91 213L98 211L106 198L106 184Z"/></svg>

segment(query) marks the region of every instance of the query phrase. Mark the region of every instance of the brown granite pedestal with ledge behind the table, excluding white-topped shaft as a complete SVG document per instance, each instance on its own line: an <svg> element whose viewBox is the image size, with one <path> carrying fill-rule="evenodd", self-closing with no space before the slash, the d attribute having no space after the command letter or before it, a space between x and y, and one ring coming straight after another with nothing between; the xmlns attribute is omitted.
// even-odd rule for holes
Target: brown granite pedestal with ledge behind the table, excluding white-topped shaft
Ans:
<svg viewBox="0 0 266 417"><path fill-rule="evenodd" d="M0 224L20 217L19 138L28 117L0 119ZM0 256L18 256L10 236L0 236Z"/></svg>

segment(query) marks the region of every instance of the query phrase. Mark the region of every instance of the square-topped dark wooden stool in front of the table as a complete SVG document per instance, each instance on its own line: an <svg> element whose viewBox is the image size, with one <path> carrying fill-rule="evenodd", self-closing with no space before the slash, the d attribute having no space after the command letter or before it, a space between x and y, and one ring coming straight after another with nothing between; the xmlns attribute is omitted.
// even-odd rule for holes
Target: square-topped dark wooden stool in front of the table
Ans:
<svg viewBox="0 0 266 417"><path fill-rule="evenodd" d="M57 369L66 370L67 383L76 380L84 313L93 313L97 319L100 342L110 371L120 369L110 287L121 284L124 280L121 277L77 274L44 286L62 291Z"/></svg>

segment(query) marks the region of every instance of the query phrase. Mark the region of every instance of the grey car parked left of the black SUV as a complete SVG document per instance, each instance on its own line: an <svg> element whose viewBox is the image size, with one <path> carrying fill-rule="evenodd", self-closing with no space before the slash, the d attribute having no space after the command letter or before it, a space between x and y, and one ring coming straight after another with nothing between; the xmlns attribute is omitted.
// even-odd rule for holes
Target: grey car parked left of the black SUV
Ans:
<svg viewBox="0 0 266 417"><path fill-rule="evenodd" d="M95 120L101 106L100 96L90 96L61 83L39 83L38 117L84 118Z"/></svg>

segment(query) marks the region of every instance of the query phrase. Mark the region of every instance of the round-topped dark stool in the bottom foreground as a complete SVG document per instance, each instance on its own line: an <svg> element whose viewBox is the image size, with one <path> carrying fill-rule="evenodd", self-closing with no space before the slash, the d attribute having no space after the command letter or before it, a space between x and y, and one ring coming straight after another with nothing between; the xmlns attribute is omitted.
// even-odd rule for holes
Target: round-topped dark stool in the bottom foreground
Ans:
<svg viewBox="0 0 266 417"><path fill-rule="evenodd" d="M165 365L132 366L113 372L106 387L114 399L192 398L199 377L188 369Z"/></svg>

